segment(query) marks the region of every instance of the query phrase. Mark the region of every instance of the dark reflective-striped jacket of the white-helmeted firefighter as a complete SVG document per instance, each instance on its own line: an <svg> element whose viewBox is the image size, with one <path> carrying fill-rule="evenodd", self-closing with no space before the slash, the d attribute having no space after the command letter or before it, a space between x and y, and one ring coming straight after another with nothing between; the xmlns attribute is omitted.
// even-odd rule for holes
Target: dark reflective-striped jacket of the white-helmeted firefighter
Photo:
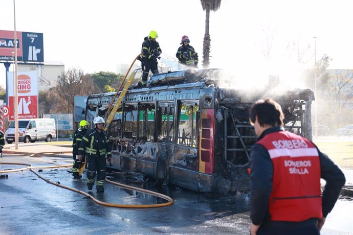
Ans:
<svg viewBox="0 0 353 235"><path fill-rule="evenodd" d="M105 156L106 154L106 158L111 158L112 145L106 132L103 130L98 132L96 128L87 131L82 137L78 154L87 156Z"/></svg>

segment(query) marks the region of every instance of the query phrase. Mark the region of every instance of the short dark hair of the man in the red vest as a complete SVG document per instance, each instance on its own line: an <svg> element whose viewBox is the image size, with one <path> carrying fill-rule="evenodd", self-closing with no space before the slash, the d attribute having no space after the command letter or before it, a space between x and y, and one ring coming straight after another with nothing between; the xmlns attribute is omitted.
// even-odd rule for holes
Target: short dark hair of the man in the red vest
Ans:
<svg viewBox="0 0 353 235"><path fill-rule="evenodd" d="M264 125L283 126L284 115L281 106L274 100L258 100L250 109L250 121L257 121L261 127Z"/></svg>

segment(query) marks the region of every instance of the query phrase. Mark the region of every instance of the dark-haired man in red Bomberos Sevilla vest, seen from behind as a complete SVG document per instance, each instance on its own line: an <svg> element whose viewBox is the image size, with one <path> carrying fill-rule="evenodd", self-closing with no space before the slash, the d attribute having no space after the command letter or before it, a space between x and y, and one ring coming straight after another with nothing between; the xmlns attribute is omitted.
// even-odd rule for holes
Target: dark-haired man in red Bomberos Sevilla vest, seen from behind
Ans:
<svg viewBox="0 0 353 235"><path fill-rule="evenodd" d="M250 122L259 136L250 154L251 234L320 234L345 177L310 140L283 129L281 106L259 100ZM321 196L320 178L326 180Z"/></svg>

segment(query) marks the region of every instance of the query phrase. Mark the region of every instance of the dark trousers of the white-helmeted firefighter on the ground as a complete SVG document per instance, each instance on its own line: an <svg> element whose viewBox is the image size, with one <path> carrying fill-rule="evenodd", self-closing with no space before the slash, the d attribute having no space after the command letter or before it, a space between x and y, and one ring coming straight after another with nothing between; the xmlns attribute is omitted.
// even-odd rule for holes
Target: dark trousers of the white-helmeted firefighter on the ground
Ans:
<svg viewBox="0 0 353 235"><path fill-rule="evenodd" d="M93 185L97 172L97 186L103 186L105 181L105 156L89 155L87 158L87 185Z"/></svg>

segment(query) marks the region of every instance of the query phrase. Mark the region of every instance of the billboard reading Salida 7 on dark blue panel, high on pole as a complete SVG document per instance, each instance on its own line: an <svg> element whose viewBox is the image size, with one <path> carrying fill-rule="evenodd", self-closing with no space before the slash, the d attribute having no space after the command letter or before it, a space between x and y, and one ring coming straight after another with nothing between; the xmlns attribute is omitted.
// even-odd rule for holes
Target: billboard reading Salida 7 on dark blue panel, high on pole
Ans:
<svg viewBox="0 0 353 235"><path fill-rule="evenodd" d="M0 30L0 60L12 61L16 44L17 61L44 62L43 34Z"/></svg>

